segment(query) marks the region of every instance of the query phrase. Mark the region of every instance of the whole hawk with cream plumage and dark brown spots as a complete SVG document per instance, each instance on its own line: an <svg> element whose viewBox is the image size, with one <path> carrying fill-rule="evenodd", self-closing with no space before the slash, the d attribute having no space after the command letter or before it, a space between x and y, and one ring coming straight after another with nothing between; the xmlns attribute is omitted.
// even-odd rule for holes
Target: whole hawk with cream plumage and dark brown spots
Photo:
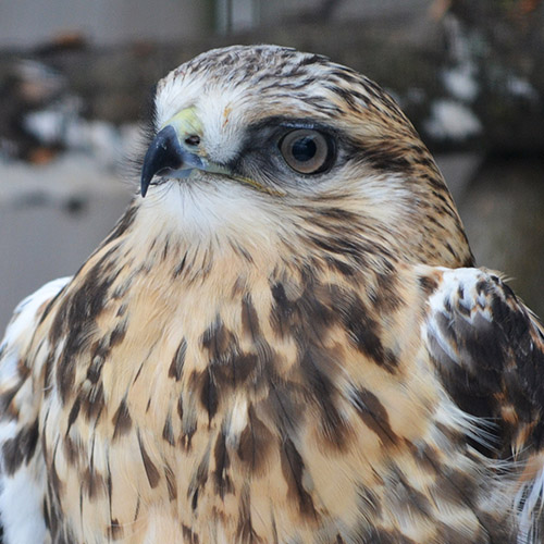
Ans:
<svg viewBox="0 0 544 544"><path fill-rule="evenodd" d="M1 345L7 544L542 542L543 329L393 100L259 46L154 103L140 194Z"/></svg>

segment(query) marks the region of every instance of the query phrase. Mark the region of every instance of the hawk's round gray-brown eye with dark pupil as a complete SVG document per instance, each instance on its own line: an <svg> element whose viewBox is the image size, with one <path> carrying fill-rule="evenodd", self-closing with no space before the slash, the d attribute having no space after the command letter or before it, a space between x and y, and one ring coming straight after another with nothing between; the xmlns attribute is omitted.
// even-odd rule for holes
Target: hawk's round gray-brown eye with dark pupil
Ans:
<svg viewBox="0 0 544 544"><path fill-rule="evenodd" d="M319 174L327 170L333 150L330 138L310 128L290 131L280 140L285 162L300 174Z"/></svg>

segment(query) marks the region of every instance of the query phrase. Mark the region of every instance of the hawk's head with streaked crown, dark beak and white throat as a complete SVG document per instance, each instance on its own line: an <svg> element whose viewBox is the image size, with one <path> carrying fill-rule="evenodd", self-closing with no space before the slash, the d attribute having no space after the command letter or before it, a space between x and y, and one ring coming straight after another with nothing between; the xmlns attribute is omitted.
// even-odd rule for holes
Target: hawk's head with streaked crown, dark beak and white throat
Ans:
<svg viewBox="0 0 544 544"><path fill-rule="evenodd" d="M429 151L350 69L275 46L217 49L162 79L154 106L139 206L193 243L471 262Z"/></svg>

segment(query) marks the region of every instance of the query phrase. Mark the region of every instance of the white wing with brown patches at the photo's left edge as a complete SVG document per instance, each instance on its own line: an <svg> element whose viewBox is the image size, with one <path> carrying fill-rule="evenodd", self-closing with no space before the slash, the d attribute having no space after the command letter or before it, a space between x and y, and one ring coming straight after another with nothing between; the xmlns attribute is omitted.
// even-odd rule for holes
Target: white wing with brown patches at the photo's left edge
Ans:
<svg viewBox="0 0 544 544"><path fill-rule="evenodd" d="M15 309L0 344L0 519L5 544L44 542L45 466L40 455L40 392L32 384L36 369L24 353L49 302L71 277L47 283Z"/></svg>

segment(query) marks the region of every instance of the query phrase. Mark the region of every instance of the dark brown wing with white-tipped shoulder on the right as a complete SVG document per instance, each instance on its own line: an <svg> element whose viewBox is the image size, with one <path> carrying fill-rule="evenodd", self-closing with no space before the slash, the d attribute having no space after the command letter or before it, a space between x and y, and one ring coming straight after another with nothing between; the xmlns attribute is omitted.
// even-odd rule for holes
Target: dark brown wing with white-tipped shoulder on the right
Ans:
<svg viewBox="0 0 544 544"><path fill-rule="evenodd" d="M544 329L502 279L479 269L441 269L426 284L424 342L442 383L465 412L493 425L483 455L518 471L519 543L544 533ZM490 426L485 432L489 434ZM470 441L470 438L468 438Z"/></svg>

